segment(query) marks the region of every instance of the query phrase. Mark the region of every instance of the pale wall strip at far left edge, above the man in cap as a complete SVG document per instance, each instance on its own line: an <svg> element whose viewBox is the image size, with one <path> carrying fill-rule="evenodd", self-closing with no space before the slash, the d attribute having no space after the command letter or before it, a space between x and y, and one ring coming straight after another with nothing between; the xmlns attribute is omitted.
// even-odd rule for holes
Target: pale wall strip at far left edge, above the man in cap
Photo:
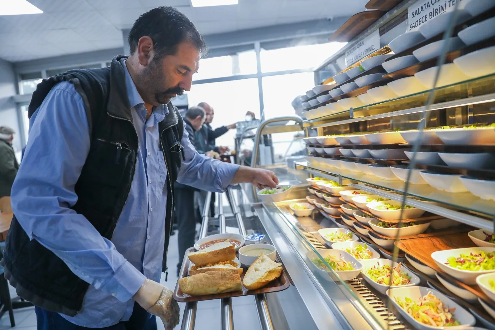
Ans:
<svg viewBox="0 0 495 330"><path fill-rule="evenodd" d="M7 125L15 129L13 146L20 151L21 129L17 118L17 108L12 96L17 94L16 79L12 63L0 59L0 126Z"/></svg>

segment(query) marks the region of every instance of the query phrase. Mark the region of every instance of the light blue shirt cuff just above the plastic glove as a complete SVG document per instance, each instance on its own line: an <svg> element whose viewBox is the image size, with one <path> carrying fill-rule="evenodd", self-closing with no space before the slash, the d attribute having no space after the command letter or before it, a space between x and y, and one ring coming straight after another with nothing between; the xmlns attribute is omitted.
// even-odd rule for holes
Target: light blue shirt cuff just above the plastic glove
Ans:
<svg viewBox="0 0 495 330"><path fill-rule="evenodd" d="M122 302L126 302L138 292L145 280L146 276L141 274L130 262L126 261L115 272L115 275L100 287L100 290L111 294Z"/></svg>

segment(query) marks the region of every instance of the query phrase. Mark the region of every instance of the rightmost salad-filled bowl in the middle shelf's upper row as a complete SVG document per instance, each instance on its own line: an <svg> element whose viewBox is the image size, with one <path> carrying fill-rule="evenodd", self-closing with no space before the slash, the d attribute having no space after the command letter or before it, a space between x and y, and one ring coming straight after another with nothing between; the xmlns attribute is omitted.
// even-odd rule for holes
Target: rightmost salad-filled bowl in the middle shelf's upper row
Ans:
<svg viewBox="0 0 495 330"><path fill-rule="evenodd" d="M495 58L495 57L494 57ZM451 128L437 131L438 137L448 145L495 144L495 128L463 129Z"/></svg>

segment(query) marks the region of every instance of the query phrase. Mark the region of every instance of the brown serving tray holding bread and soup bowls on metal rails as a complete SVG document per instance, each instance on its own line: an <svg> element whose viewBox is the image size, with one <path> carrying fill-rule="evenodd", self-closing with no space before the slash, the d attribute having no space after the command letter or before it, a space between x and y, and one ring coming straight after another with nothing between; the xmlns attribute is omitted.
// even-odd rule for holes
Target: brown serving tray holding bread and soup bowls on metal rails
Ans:
<svg viewBox="0 0 495 330"><path fill-rule="evenodd" d="M179 279L183 277L187 277L189 274L189 267L190 267L190 260L187 257L187 254L189 251L194 250L194 247L191 247L187 249L186 254L184 256L184 260L182 262L182 267L179 275ZM283 291L287 289L291 283L289 281L289 277L287 276L285 272L285 268L283 263L280 261L279 257L277 256L277 259L275 260L278 263L282 264L282 275L280 275L279 278L271 281L267 285L256 289L256 290L248 290L243 286L242 291L234 291L234 292L227 292L227 293L219 293L219 294L208 294L208 295L203 295L203 296L190 296L189 294L186 294L181 291L179 288L179 282L175 285L175 290L174 290L174 299L178 302L192 302L192 301L204 301L204 300L212 300L212 299L221 299L221 298L233 298L233 297L241 297L241 296L249 296L253 294L260 294L260 293L269 293L269 292L278 292L278 291ZM241 265L242 267L242 265ZM244 268L244 267L243 267ZM247 268L244 268L243 275L241 275L241 281L244 279L244 275L246 274Z"/></svg>

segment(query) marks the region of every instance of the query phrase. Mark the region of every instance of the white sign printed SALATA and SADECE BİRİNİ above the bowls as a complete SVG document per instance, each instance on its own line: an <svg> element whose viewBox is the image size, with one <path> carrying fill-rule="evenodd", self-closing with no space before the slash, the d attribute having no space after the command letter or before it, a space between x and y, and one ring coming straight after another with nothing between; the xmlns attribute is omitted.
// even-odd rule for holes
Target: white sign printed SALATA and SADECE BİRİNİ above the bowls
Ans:
<svg viewBox="0 0 495 330"><path fill-rule="evenodd" d="M428 22L435 16L441 15L444 12L454 10L455 4L462 0L419 0L409 8L408 27L406 32L416 31L421 24ZM469 0L463 0L469 1ZM476 1L476 0L475 0Z"/></svg>

